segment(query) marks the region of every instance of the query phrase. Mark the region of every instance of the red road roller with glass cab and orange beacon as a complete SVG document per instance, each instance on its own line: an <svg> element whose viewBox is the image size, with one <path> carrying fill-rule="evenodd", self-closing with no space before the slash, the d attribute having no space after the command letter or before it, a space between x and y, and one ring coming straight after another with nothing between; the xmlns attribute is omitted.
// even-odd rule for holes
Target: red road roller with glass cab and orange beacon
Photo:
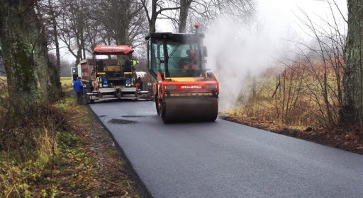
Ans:
<svg viewBox="0 0 363 198"><path fill-rule="evenodd" d="M195 24L197 28L197 24ZM201 33L150 33L147 64L157 114L164 123L213 122L218 116L219 83L206 69Z"/></svg>

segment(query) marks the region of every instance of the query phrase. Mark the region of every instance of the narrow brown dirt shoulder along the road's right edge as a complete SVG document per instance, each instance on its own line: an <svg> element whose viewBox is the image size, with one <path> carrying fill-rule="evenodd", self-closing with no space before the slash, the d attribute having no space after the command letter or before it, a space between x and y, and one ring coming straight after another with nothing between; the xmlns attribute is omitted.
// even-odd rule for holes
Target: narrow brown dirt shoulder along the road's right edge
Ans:
<svg viewBox="0 0 363 198"><path fill-rule="evenodd" d="M292 136L298 139L323 144L325 146L332 146L345 151L363 154L363 132L359 128L352 127L351 129L347 130L333 129L328 131L316 130L311 127L307 127L305 130L300 130L250 117L233 117L229 115L223 115L220 118L230 122L245 124L258 129L264 129L269 132Z"/></svg>

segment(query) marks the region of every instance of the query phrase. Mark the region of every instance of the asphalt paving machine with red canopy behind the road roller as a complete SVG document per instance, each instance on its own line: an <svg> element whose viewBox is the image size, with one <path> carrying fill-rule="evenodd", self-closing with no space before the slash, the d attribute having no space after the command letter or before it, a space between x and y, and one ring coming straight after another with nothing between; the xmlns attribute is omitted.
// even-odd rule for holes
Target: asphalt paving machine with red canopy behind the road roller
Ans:
<svg viewBox="0 0 363 198"><path fill-rule="evenodd" d="M84 97L87 103L106 100L148 100L149 91L140 91L137 87L135 65L130 59L133 49L126 45L98 45L94 48L93 59L79 62L78 76L84 84ZM125 62L119 59L97 59L98 55L125 56Z"/></svg>

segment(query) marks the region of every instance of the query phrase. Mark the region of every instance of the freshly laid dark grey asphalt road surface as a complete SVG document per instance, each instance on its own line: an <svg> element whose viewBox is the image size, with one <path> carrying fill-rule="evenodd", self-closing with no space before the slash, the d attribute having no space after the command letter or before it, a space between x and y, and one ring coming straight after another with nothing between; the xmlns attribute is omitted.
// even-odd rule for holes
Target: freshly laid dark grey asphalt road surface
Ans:
<svg viewBox="0 0 363 198"><path fill-rule="evenodd" d="M225 120L163 124L152 102L90 105L153 197L363 197L363 156Z"/></svg>

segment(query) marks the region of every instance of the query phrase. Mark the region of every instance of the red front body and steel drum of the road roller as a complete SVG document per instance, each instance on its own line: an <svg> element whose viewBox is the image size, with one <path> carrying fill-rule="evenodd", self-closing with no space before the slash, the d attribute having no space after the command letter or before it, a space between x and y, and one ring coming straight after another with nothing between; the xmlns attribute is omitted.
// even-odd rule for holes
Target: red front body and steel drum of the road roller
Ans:
<svg viewBox="0 0 363 198"><path fill-rule="evenodd" d="M153 83L157 115L165 124L173 122L213 122L218 117L218 93L207 85L218 84L210 73L206 81L163 81L157 74L158 83ZM177 85L174 90L166 90L168 85ZM182 88L187 87L187 88Z"/></svg>

